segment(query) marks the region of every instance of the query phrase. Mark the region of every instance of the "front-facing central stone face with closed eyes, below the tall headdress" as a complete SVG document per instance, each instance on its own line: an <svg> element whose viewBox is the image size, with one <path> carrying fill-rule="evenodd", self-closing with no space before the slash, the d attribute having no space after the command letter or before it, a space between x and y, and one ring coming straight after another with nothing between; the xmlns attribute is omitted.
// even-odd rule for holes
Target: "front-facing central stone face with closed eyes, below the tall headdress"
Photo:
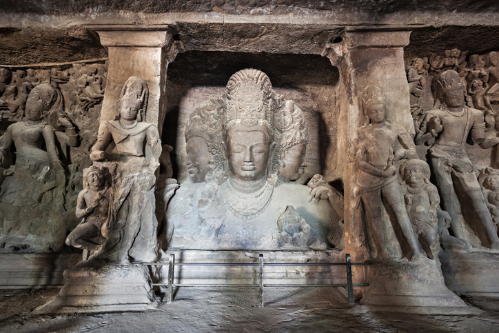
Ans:
<svg viewBox="0 0 499 333"><path fill-rule="evenodd" d="M270 139L265 127L234 126L226 134L230 172L241 181L258 181L266 175Z"/></svg>

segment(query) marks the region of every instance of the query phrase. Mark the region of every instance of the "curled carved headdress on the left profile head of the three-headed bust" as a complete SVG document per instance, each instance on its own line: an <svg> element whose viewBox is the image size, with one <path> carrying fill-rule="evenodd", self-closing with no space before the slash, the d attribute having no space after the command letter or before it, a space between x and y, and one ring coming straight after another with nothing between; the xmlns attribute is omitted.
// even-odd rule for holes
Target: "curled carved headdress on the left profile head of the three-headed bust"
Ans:
<svg viewBox="0 0 499 333"><path fill-rule="evenodd" d="M198 106L190 114L185 125L185 141L201 137L206 141L208 150L214 157L217 167L223 167L220 144L222 142L223 101L213 99Z"/></svg>

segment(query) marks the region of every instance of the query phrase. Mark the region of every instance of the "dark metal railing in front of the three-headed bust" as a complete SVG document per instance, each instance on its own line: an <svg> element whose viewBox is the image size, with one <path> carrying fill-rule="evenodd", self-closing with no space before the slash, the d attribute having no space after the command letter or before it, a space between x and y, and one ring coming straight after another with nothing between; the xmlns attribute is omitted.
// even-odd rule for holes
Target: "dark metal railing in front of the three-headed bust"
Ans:
<svg viewBox="0 0 499 333"><path fill-rule="evenodd" d="M368 263L352 263L350 254L345 254L345 263L265 263L265 266L346 266L347 283L346 284L274 284L263 283L263 254L259 254L258 263L176 263L175 255L170 254L168 263L143 263L148 266L168 265L168 283L152 283L152 286L167 287L167 303L173 301L174 287L258 287L258 303L263 306L263 288L264 287L346 287L349 305L354 304L354 287L367 287L368 283L352 283L352 266L365 266ZM182 284L174 283L175 266L258 266L258 284Z"/></svg>

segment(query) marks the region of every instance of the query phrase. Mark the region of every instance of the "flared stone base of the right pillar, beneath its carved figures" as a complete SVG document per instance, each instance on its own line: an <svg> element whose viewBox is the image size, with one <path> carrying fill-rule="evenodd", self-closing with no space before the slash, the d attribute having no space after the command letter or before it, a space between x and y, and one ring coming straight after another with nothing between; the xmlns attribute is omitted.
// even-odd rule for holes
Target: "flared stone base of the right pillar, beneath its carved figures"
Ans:
<svg viewBox="0 0 499 333"><path fill-rule="evenodd" d="M438 262L380 262L367 267L361 304L396 307L468 307L445 286Z"/></svg>

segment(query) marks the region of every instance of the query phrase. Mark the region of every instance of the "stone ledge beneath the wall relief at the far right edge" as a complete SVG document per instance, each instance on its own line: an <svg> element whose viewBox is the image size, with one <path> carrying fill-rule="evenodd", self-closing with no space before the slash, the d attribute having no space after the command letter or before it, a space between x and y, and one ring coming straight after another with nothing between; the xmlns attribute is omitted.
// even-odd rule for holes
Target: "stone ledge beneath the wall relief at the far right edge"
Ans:
<svg viewBox="0 0 499 333"><path fill-rule="evenodd" d="M499 254L446 250L440 253L445 284L458 294L499 297Z"/></svg>

